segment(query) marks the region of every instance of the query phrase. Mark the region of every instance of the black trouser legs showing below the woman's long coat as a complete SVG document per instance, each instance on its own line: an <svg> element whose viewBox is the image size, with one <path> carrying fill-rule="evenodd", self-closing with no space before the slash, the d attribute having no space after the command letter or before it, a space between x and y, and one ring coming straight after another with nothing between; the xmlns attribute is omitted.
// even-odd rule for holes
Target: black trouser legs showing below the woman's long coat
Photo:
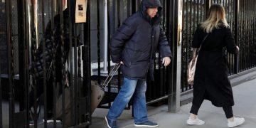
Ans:
<svg viewBox="0 0 256 128"><path fill-rule="evenodd" d="M201 105L202 105L202 103L203 103L203 101L201 102ZM196 114L196 115L197 115L197 114L198 114L198 110L199 110L199 108L201 107L201 105L199 105L199 106L192 105L190 112L191 112L192 114ZM223 110L224 110L224 112L225 112L225 116L227 117L227 119L233 117L232 106L223 107Z"/></svg>

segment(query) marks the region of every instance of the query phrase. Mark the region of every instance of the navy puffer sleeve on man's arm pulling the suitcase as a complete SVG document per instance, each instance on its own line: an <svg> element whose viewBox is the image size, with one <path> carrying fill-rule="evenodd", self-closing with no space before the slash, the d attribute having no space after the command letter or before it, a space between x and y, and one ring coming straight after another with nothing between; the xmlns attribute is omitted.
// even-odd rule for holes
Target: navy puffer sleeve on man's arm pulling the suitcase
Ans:
<svg viewBox="0 0 256 128"><path fill-rule="evenodd" d="M110 55L113 63L119 63L122 60L122 50L125 42L136 31L136 20L127 18L112 36L110 42Z"/></svg>

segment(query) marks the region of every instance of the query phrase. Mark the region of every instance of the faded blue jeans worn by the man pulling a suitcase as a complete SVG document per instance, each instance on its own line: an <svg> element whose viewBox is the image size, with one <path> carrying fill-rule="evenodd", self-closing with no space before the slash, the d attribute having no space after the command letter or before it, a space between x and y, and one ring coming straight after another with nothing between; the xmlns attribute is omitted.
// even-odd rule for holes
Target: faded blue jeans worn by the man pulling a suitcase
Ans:
<svg viewBox="0 0 256 128"><path fill-rule="evenodd" d="M142 123L148 121L146 111L146 80L131 80L124 78L124 82L117 97L114 99L107 117L115 121L133 96L134 122Z"/></svg>

